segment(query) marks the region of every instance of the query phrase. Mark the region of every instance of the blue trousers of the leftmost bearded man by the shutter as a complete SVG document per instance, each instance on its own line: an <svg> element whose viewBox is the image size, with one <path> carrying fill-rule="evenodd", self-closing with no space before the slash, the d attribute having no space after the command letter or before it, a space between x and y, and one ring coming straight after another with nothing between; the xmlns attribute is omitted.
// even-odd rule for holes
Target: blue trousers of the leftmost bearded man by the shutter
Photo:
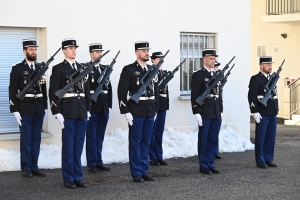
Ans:
<svg viewBox="0 0 300 200"><path fill-rule="evenodd" d="M35 108L33 116L21 115L21 118L21 170L37 171L44 115L39 116Z"/></svg>

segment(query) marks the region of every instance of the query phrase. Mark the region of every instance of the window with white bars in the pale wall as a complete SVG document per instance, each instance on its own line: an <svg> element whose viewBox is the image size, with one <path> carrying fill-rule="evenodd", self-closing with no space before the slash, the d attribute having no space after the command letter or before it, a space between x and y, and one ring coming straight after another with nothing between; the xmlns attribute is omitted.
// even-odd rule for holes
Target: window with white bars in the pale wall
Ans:
<svg viewBox="0 0 300 200"><path fill-rule="evenodd" d="M186 59L180 68L180 96L191 94L192 74L203 67L202 50L207 48L216 48L215 34L180 34L180 60Z"/></svg>

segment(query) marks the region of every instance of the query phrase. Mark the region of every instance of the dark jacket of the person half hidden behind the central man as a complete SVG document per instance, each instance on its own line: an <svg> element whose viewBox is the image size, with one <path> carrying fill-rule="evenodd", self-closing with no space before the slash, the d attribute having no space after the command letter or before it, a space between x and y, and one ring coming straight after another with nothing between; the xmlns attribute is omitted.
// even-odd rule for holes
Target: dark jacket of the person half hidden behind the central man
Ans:
<svg viewBox="0 0 300 200"><path fill-rule="evenodd" d="M167 70L159 70L158 72L158 83L162 81L163 76L168 73ZM159 102L158 110L169 110L169 90L168 85L159 89Z"/></svg>

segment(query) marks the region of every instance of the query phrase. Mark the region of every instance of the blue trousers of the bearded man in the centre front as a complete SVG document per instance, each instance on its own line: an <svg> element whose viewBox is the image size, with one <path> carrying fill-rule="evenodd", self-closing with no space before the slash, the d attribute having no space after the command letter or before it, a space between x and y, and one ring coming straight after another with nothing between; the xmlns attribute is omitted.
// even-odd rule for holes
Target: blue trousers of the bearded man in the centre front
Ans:
<svg viewBox="0 0 300 200"><path fill-rule="evenodd" d="M132 177L148 175L153 125L154 117L137 116L133 116L133 125L129 125L129 162Z"/></svg>

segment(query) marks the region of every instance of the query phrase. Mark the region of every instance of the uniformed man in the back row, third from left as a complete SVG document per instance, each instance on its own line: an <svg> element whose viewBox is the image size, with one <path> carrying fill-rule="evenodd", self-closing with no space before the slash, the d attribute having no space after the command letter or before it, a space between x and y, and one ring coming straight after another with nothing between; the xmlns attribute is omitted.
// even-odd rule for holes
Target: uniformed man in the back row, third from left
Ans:
<svg viewBox="0 0 300 200"><path fill-rule="evenodd" d="M93 43L89 46L90 56L92 62L102 55L103 46L101 43ZM97 80L104 71L105 66L100 63L93 67L89 73L89 85L91 95L98 87ZM97 102L91 103L91 117L88 121L88 128L86 132L86 158L87 166L90 172L97 172L100 170L109 171L110 168L103 164L102 160L102 144L106 125L109 118L109 108L112 108L112 87L110 81L107 84L108 88L103 86L103 93L99 94Z"/></svg>

